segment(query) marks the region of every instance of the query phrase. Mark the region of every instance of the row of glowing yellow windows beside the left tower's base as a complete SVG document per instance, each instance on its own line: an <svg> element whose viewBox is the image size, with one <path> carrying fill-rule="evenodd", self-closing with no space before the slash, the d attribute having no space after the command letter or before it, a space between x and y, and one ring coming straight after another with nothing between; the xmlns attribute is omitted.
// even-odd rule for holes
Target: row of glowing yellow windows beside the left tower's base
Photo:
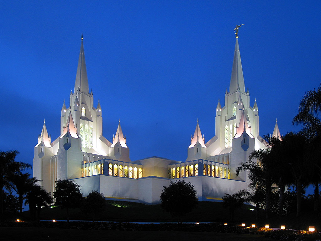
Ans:
<svg viewBox="0 0 321 241"><path fill-rule="evenodd" d="M104 164L95 164L90 166L82 167L82 177L104 174ZM119 176L128 178L141 178L143 177L143 168L132 167L118 164L108 164L108 176Z"/></svg>

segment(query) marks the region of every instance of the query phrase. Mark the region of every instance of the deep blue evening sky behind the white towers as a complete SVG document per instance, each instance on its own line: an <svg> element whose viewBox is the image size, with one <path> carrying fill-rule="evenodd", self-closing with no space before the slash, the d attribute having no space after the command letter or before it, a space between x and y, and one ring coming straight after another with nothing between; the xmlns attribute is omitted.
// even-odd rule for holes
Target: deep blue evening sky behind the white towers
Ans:
<svg viewBox="0 0 321 241"><path fill-rule="evenodd" d="M320 1L4 1L0 9L0 150L32 164L43 119L56 139L81 44L103 135L120 118L131 160L184 161L196 119L214 136L239 29L260 134L298 131L299 101L320 85Z"/></svg>

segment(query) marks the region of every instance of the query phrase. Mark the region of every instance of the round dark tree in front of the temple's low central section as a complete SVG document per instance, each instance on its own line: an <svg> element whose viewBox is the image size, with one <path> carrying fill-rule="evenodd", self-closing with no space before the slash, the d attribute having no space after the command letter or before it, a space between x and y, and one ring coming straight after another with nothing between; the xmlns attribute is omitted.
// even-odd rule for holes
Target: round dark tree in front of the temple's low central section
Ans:
<svg viewBox="0 0 321 241"><path fill-rule="evenodd" d="M162 208L178 217L178 223L182 216L186 215L197 205L198 197L191 183L184 180L170 182L168 187L163 187L160 195Z"/></svg>

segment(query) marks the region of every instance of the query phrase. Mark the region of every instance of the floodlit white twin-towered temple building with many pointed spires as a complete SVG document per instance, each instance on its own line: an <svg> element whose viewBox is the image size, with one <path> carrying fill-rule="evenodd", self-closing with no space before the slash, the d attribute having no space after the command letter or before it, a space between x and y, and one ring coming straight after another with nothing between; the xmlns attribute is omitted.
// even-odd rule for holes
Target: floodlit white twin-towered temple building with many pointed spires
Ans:
<svg viewBox="0 0 321 241"><path fill-rule="evenodd" d="M73 179L87 195L97 190L108 199L156 204L163 186L184 179L194 185L199 201L221 200L225 193L247 189L247 173L235 169L253 149L265 148L259 135L256 100L250 106L236 38L230 89L224 106L216 107L215 136L205 142L197 120L185 162L162 157L131 161L120 121L112 140L102 135L102 108L89 92L83 38L70 106L61 109L60 136L54 141L43 124L34 148L33 176L51 194L57 179ZM273 135L281 137L275 123ZM187 138L187 137L186 137Z"/></svg>

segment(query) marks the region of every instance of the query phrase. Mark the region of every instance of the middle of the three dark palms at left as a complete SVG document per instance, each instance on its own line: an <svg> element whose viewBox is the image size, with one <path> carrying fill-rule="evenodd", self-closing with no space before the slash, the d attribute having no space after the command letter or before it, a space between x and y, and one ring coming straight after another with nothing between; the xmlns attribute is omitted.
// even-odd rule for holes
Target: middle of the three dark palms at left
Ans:
<svg viewBox="0 0 321 241"><path fill-rule="evenodd" d="M18 194L19 209L22 212L24 195L30 191L31 186L38 182L35 177L30 178L30 173L18 172L10 176L10 186Z"/></svg>

